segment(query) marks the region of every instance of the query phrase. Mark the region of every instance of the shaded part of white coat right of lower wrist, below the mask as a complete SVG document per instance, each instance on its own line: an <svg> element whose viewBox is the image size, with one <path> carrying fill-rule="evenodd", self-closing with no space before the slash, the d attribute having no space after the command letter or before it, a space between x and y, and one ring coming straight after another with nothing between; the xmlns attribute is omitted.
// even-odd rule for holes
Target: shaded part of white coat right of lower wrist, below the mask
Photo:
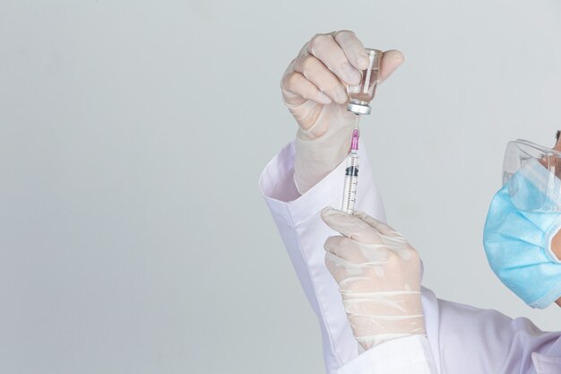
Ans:
<svg viewBox="0 0 561 374"><path fill-rule="evenodd" d="M441 373L560 374L561 333L524 317L438 300L423 292L427 334Z"/></svg>

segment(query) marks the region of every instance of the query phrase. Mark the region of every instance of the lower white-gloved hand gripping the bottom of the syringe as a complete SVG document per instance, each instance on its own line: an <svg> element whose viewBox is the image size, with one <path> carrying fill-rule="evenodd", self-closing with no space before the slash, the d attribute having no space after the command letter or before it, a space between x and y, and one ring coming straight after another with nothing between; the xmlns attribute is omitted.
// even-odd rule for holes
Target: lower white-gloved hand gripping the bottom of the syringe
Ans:
<svg viewBox="0 0 561 374"><path fill-rule="evenodd" d="M425 335L415 248L366 213L325 208L322 219L342 235L325 241L325 265L339 283L358 343L367 350L402 336Z"/></svg>

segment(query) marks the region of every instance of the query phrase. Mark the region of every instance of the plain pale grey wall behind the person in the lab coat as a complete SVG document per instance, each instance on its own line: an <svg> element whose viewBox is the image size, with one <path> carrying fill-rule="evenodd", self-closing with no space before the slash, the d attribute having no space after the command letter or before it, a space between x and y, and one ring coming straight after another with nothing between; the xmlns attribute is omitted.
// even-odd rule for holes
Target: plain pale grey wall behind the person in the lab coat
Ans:
<svg viewBox="0 0 561 374"><path fill-rule="evenodd" d="M351 6L352 4L352 6ZM256 187L317 32L406 63L363 138L444 299L558 329L488 269L507 141L561 127L554 0L0 0L0 372L323 372Z"/></svg>

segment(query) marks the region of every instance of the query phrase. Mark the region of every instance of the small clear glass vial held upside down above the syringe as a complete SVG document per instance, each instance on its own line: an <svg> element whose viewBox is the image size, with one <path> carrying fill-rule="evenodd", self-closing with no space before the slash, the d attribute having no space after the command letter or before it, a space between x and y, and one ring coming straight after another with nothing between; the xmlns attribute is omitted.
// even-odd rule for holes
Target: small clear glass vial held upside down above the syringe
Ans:
<svg viewBox="0 0 561 374"><path fill-rule="evenodd" d="M376 86L378 85L378 74L380 74L380 61L383 52L378 49L365 48L368 54L368 67L360 72L360 83L357 86L347 86L349 103L347 110L356 115L370 114L368 103L374 99Z"/></svg>

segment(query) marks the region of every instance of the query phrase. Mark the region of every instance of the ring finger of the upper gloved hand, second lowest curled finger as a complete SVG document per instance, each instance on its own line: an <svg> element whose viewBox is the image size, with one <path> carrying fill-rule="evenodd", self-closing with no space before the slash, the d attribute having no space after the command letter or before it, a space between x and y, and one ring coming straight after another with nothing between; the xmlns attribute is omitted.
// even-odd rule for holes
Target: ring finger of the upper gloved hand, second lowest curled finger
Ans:
<svg viewBox="0 0 561 374"><path fill-rule="evenodd" d="M331 36L327 37L331 39ZM294 71L303 74L331 100L339 104L344 104L349 100L347 89L339 78L317 57L310 55L307 50L296 58Z"/></svg>

